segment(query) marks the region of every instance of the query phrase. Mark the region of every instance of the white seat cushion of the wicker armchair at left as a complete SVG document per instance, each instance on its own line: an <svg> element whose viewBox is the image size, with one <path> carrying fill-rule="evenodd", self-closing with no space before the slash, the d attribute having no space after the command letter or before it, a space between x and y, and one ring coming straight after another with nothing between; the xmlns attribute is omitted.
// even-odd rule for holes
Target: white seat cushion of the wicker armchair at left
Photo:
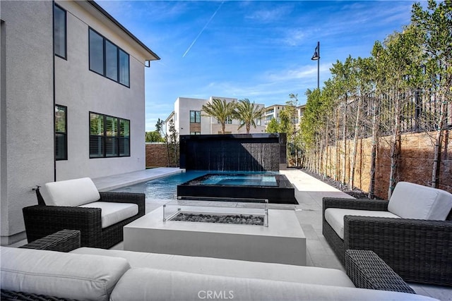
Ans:
<svg viewBox="0 0 452 301"><path fill-rule="evenodd" d="M102 209L102 213L100 214L102 228L107 228L119 221L124 221L124 219L129 219L129 217L138 214L138 205L131 203L93 202L78 207Z"/></svg>

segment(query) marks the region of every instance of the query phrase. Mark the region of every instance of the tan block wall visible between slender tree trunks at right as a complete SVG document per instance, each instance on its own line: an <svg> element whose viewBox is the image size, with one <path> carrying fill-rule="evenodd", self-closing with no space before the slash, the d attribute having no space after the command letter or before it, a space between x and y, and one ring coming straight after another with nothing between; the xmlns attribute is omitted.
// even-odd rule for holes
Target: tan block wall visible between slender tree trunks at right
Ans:
<svg viewBox="0 0 452 301"><path fill-rule="evenodd" d="M402 135L401 158L398 168L398 181L407 181L429 186L432 181L432 166L434 159L434 135L436 133L410 133ZM452 192L452 130L444 134L443 149L441 149L441 164L439 173L439 188ZM390 137L379 140L376 160L375 195L387 198L389 173L391 168ZM331 146L323 153L322 168L326 175L341 180L343 178L343 146L342 141ZM350 183L350 158L353 151L353 141L346 142L345 180ZM355 164L354 184L360 190L369 191L371 138L358 141L357 161Z"/></svg>

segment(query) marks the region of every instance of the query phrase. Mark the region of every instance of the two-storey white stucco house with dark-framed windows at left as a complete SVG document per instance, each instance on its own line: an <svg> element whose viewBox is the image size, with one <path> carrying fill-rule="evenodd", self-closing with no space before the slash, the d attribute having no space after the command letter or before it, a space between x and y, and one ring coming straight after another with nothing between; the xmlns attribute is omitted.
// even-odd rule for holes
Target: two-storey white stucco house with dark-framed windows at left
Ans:
<svg viewBox="0 0 452 301"><path fill-rule="evenodd" d="M94 1L1 1L1 244L36 185L145 168L145 66L160 59Z"/></svg>

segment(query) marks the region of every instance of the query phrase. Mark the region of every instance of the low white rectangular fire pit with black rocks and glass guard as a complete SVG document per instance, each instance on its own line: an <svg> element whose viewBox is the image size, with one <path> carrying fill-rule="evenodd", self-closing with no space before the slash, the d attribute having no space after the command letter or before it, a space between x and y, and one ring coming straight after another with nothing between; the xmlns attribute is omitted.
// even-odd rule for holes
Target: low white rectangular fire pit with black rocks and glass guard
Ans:
<svg viewBox="0 0 452 301"><path fill-rule="evenodd" d="M178 208L181 212L219 216L262 213L262 209L237 207ZM306 237L295 211L280 209L268 209L267 227L163 221L162 209L155 209L124 226L124 250L306 265Z"/></svg>

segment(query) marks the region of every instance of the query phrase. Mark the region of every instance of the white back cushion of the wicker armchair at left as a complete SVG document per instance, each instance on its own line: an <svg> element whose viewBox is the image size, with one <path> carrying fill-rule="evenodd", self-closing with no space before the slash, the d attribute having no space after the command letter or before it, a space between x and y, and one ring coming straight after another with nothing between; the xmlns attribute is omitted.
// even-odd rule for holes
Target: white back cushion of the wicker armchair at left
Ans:
<svg viewBox="0 0 452 301"><path fill-rule="evenodd" d="M40 192L47 206L77 207L100 199L90 178L45 183Z"/></svg>

